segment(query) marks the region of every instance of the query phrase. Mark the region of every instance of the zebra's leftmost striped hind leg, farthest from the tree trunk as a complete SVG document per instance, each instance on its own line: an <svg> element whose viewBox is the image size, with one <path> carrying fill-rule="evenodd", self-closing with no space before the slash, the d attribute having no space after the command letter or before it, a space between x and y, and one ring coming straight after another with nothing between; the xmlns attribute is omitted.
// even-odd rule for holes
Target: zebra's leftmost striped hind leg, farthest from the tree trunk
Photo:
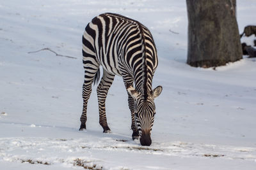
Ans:
<svg viewBox="0 0 256 170"><path fill-rule="evenodd" d="M90 64L89 67L84 66L84 84L83 84L83 112L80 118L81 125L79 131L86 129L86 120L87 120L87 103L90 95L92 93L92 83L93 78L96 76L96 73L99 71L99 66L93 66Z"/></svg>

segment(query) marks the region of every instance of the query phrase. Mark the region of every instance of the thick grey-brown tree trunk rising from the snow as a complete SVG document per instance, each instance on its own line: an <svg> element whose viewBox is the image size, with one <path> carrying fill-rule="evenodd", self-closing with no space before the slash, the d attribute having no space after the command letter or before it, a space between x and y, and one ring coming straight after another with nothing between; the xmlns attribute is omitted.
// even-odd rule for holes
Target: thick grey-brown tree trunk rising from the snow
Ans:
<svg viewBox="0 0 256 170"><path fill-rule="evenodd" d="M195 67L223 66L242 59L236 0L186 0L188 59Z"/></svg>

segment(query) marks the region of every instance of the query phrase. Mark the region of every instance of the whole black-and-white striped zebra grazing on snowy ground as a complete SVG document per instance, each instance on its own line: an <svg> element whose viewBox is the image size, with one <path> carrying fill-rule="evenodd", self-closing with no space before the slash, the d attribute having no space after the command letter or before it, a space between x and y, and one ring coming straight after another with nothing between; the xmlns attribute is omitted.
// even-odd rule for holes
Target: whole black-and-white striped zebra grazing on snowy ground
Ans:
<svg viewBox="0 0 256 170"><path fill-rule="evenodd" d="M147 27L115 13L103 13L93 18L83 34L83 113L79 131L86 129L92 83L99 81L99 67L102 66L103 75L97 87L97 97L99 123L103 132L111 132L105 110L109 87L115 75L122 76L131 110L132 139L140 138L141 145L150 146L150 133L156 114L154 98L163 90L161 86L152 90L157 64L156 45Z"/></svg>

